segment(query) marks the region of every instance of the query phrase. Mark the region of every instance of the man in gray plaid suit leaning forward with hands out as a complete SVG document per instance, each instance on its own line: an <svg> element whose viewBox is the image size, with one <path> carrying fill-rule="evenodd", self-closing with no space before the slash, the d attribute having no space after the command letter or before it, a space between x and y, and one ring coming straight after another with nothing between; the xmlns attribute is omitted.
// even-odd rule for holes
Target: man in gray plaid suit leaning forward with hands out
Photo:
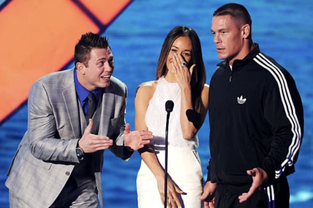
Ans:
<svg viewBox="0 0 313 208"><path fill-rule="evenodd" d="M82 35L74 61L74 68L46 75L30 90L28 128L7 174L10 207L102 207L103 151L128 159L153 138L125 125L127 88L112 77L106 37Z"/></svg>

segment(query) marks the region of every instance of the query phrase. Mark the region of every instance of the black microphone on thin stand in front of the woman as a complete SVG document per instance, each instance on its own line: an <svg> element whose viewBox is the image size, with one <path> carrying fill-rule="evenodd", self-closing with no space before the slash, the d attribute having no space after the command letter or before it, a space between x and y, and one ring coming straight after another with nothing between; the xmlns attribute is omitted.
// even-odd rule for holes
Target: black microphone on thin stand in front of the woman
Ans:
<svg viewBox="0 0 313 208"><path fill-rule="evenodd" d="M167 207L167 188L168 188L168 129L170 113L173 111L174 102L171 100L166 101L165 110L167 112L166 128L165 128L165 181L164 181L164 208Z"/></svg>

